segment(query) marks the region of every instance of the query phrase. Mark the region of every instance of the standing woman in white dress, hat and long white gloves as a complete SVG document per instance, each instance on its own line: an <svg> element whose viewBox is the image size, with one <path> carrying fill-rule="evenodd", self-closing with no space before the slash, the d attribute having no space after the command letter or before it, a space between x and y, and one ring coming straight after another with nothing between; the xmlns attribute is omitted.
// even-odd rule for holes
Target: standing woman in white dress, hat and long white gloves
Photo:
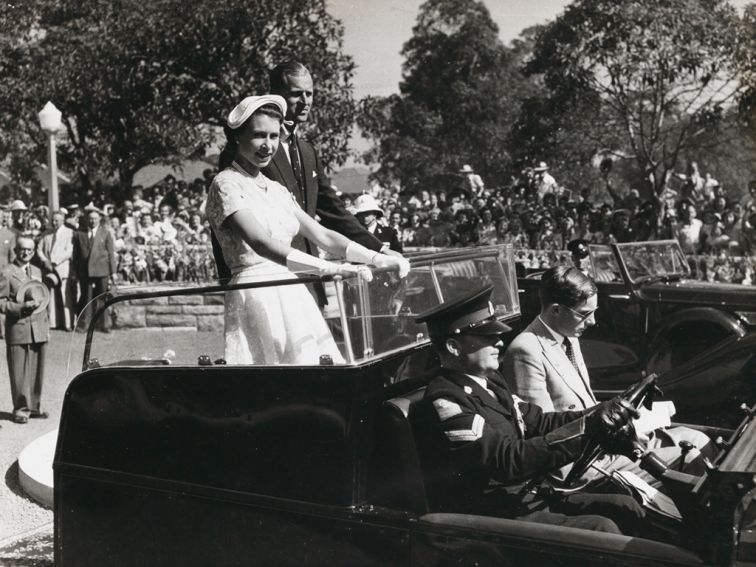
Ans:
<svg viewBox="0 0 756 567"><path fill-rule="evenodd" d="M409 263L357 244L321 226L291 193L265 177L278 149L286 102L278 95L250 96L228 115L221 172L213 179L206 213L231 270L230 284L296 278L293 272L360 274L364 267L336 264L292 248L297 234L349 262L397 266ZM321 355L343 360L336 342L304 285L280 285L226 292L228 364L318 364Z"/></svg>

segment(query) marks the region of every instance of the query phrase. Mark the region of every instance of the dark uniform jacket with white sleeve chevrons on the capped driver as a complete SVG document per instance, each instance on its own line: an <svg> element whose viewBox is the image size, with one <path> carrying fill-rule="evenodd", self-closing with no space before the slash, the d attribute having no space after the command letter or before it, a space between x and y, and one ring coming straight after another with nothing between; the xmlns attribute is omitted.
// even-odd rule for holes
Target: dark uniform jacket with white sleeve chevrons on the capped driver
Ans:
<svg viewBox="0 0 756 567"><path fill-rule="evenodd" d="M582 412L544 413L515 400L501 376L488 387L441 368L416 417L428 492L436 507L475 509L492 487L519 488L573 461L584 444Z"/></svg>

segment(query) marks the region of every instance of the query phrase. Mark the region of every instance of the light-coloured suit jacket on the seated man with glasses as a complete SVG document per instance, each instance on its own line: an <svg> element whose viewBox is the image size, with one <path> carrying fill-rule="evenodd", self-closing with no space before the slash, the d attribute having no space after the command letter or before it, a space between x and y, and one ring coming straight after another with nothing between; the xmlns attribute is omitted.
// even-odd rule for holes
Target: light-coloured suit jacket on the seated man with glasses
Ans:
<svg viewBox="0 0 756 567"><path fill-rule="evenodd" d="M572 339L580 373L562 345L536 317L507 348L501 370L510 387L543 411L583 410L596 404L579 342Z"/></svg>

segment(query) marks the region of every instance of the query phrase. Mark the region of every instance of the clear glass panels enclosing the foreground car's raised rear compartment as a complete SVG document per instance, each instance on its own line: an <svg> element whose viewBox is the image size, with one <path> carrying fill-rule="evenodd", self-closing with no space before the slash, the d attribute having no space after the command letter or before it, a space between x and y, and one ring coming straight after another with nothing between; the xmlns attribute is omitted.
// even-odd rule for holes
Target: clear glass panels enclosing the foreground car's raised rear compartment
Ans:
<svg viewBox="0 0 756 567"><path fill-rule="evenodd" d="M510 319L520 313L511 245L418 255L411 259L411 263L412 270L405 279L400 279L392 270L376 269L371 282L358 278L324 279L321 282L313 276L304 276L304 279L289 276L273 281L242 283L233 289L187 289L165 285L159 289L122 287L114 296L101 296L93 301L79 317L81 330L86 328L89 333L84 338L91 336L91 340L82 340L83 333L76 333L77 339L71 345L74 354L69 356L72 361L69 375L82 368L82 350L84 369L166 364L302 366L359 363L427 342L425 326L414 321L418 314L486 285L494 286L492 303L496 316ZM276 292L303 285L314 299L309 303L320 308L317 321L313 320L312 314L288 309L288 306L281 307L278 312L266 309L259 313L250 307L250 303L239 302L239 294L246 297L245 290L254 290L258 294L260 290L263 293L266 289ZM110 304L103 309L105 301ZM99 316L96 315L98 312ZM280 317L272 315L279 312ZM247 345L240 346L244 341L250 342L252 353L268 355L268 351L255 350L252 345L256 340L254 330L260 321L264 321L265 328L274 335L272 349L289 341L291 344L281 348L298 353L304 347L292 340L290 334L279 332L287 323L280 319L286 317L293 317L293 326L300 329L321 325L324 331L320 334L326 335L327 340L318 343L316 349L321 349L321 344L326 346L315 350L307 362L302 358L277 356L275 352L267 360L257 355L234 358L240 348L247 353ZM241 320L249 327L243 340L240 340L239 333L229 332L229 320ZM93 321L91 325L90 321ZM328 344L333 348L329 349Z"/></svg>

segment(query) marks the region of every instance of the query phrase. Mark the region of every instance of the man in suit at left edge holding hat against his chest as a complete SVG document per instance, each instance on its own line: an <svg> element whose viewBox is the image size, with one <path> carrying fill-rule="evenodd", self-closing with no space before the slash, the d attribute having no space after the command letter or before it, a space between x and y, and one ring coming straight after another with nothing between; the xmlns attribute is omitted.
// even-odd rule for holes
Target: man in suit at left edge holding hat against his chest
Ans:
<svg viewBox="0 0 756 567"><path fill-rule="evenodd" d="M40 409L45 374L47 288L42 271L31 264L34 240L16 240L16 258L0 272L0 313L5 314L5 344L13 398L13 421L48 417Z"/></svg>

